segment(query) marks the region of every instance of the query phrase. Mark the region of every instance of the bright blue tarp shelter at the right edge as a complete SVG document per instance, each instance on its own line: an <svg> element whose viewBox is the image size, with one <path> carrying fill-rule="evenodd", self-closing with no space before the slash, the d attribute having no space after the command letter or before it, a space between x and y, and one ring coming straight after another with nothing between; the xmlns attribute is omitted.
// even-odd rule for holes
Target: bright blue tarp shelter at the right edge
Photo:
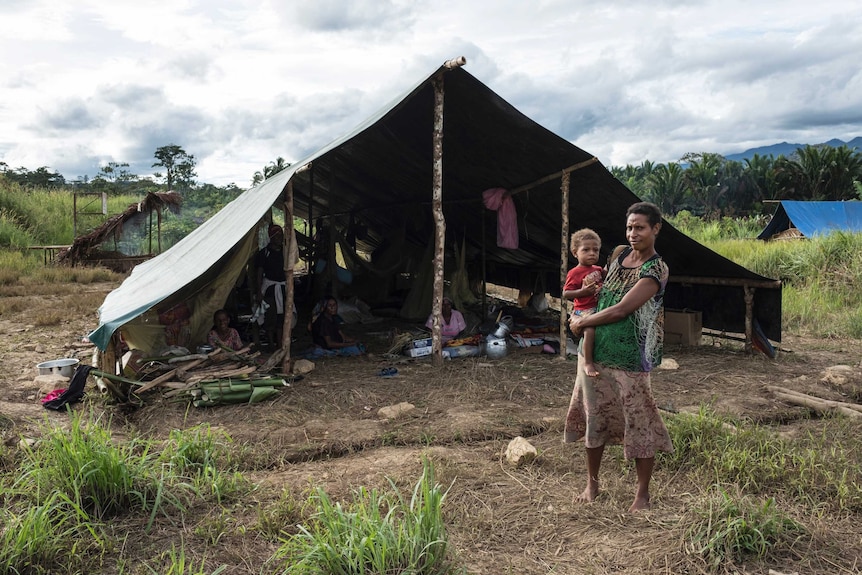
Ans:
<svg viewBox="0 0 862 575"><path fill-rule="evenodd" d="M757 239L768 240L791 227L806 237L836 230L862 232L862 202L781 201Z"/></svg>

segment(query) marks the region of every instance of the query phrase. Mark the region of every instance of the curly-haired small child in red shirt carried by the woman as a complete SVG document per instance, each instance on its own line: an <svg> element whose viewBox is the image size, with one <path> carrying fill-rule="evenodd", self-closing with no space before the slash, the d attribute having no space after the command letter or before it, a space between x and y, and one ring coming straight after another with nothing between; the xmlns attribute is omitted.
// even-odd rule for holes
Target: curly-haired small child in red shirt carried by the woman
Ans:
<svg viewBox="0 0 862 575"><path fill-rule="evenodd" d="M599 289L602 287L607 270L596 265L599 261L599 251L602 240L590 228L583 228L572 234L569 249L578 260L578 265L569 270L566 284L563 286L563 297L574 303L572 313L587 316L595 313L599 305ZM593 364L593 340L595 328L584 330L584 370L587 375L595 377L599 374Z"/></svg>

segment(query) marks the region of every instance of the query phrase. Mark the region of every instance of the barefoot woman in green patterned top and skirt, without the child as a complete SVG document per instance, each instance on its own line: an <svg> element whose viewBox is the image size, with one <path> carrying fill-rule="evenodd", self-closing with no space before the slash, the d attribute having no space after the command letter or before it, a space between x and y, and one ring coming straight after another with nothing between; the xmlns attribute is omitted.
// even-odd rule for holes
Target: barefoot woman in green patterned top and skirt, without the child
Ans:
<svg viewBox="0 0 862 575"><path fill-rule="evenodd" d="M587 485L577 500L599 494L599 467L605 445L622 444L635 460L637 491L629 511L649 509L649 484L657 451L672 451L670 435L650 388L650 370L661 362L664 315L662 298L668 268L655 251L661 211L639 202L626 212L628 246L608 262L596 313L572 315L575 335L595 327L595 376L578 355L578 372L566 414L563 441L584 438ZM618 253L618 255L616 255Z"/></svg>

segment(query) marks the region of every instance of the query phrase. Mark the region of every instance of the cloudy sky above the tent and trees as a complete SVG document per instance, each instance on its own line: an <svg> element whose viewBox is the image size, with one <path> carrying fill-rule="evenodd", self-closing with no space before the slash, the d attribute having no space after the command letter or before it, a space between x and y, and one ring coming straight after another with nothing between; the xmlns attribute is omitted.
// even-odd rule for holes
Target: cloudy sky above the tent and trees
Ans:
<svg viewBox="0 0 862 575"><path fill-rule="evenodd" d="M608 166L862 136L858 0L0 0L0 161L247 187L461 55Z"/></svg>

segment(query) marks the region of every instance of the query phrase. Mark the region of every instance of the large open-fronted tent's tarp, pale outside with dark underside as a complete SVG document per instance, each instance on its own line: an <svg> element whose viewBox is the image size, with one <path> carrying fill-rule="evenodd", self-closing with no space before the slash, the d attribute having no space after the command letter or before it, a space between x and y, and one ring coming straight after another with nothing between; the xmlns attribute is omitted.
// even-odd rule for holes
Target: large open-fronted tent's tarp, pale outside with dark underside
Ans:
<svg viewBox="0 0 862 575"><path fill-rule="evenodd" d="M593 228L605 254L625 243L625 211L638 201L630 190L591 154L526 117L466 70L441 67L351 133L243 193L173 248L137 266L105 299L90 339L105 349L122 327L133 346L151 346L162 327L157 312L178 301L192 302L190 330L200 338L257 249L271 207L282 205L288 183L296 216L340 223L357 248L373 254L371 265L386 262L397 271L399 261L410 259L404 254L427 253L435 229L435 84L444 93L446 244L464 246L472 278L510 287L541 284L560 295L561 176L567 171L569 231ZM517 249L497 246L497 214L482 199L490 188L512 192ZM672 274L667 307L699 310L703 325L716 330L749 333L746 327L756 322L780 341L780 283L668 224L657 249ZM379 291L384 284L376 281Z"/></svg>

